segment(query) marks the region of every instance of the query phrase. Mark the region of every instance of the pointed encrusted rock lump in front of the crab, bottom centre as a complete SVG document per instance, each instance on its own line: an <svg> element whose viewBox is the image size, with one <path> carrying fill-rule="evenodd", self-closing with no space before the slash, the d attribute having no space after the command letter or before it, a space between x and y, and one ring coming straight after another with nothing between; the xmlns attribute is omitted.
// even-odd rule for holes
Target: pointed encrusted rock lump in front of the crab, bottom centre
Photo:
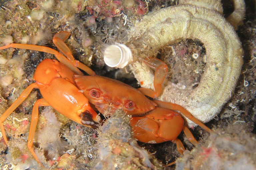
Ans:
<svg viewBox="0 0 256 170"><path fill-rule="evenodd" d="M162 165L132 137L130 117L117 110L99 129L99 161L94 170L161 169Z"/></svg>

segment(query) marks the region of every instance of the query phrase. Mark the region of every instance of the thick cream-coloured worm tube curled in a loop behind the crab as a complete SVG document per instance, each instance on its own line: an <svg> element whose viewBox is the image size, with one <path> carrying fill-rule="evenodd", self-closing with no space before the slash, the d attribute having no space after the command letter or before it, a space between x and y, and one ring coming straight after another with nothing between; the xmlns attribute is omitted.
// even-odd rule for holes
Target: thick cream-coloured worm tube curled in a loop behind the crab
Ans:
<svg viewBox="0 0 256 170"><path fill-rule="evenodd" d="M222 16L221 3L216 1L216 4L200 7L184 2L154 11L135 25L126 43L134 60L154 56L162 46L180 39L199 39L204 43L207 61L199 85L195 89L182 89L166 82L157 98L183 106L202 122L213 119L230 99L243 64L241 42ZM137 80L144 82L142 87L154 90L150 68L136 62L131 69Z"/></svg>

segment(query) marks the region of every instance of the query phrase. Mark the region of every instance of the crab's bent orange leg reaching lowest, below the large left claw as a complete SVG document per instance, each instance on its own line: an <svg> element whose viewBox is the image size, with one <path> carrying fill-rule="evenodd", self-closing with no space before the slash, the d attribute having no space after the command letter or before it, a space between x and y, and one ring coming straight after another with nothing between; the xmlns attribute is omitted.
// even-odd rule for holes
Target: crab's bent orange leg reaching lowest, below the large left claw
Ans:
<svg viewBox="0 0 256 170"><path fill-rule="evenodd" d="M44 98L38 99L36 101L36 103L34 104L33 110L32 110L32 118L31 118L31 124L30 124L30 129L29 129L29 135L28 135L28 148L29 148L30 152L32 153L32 155L34 156L35 160L41 166L43 166L43 164L39 161L39 159L33 149L33 140L34 140L36 125L37 125L37 121L38 121L38 107L40 107L40 106L50 106L50 105L44 100Z"/></svg>

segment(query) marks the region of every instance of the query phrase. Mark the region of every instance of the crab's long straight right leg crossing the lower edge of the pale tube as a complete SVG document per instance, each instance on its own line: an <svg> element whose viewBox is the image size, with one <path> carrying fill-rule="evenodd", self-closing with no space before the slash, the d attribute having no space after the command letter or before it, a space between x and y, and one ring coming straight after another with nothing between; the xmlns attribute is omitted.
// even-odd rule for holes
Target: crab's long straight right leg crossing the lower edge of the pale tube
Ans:
<svg viewBox="0 0 256 170"><path fill-rule="evenodd" d="M158 101L158 100L153 100L153 102L155 102L158 105L158 107L161 107L161 108L166 108L166 109L170 109L170 110L178 110L185 117L187 117L189 120L191 120L192 122L199 125L201 128L204 128L208 132L212 131L210 128L208 128L203 123L201 123L199 120L197 120L195 117L193 117L185 108L183 108L180 105L177 105L177 104L174 104L174 103L169 103L169 102L162 102L162 101Z"/></svg>

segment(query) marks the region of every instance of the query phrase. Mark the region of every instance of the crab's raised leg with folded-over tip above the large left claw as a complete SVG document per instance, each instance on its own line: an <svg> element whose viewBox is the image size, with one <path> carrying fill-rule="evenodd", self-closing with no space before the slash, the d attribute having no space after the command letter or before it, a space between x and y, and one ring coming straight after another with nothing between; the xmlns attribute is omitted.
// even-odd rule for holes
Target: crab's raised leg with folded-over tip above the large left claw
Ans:
<svg viewBox="0 0 256 170"><path fill-rule="evenodd" d="M68 48L68 46L65 44L65 40L69 37L70 33L67 31L61 31L54 35L53 37L53 43L57 46L57 48L63 52L69 61L75 65L78 68L81 68L85 72L87 72L89 75L96 75L96 73L90 69L88 66L84 65L83 63L80 63L78 60L74 59L74 56L72 55L72 52Z"/></svg>

